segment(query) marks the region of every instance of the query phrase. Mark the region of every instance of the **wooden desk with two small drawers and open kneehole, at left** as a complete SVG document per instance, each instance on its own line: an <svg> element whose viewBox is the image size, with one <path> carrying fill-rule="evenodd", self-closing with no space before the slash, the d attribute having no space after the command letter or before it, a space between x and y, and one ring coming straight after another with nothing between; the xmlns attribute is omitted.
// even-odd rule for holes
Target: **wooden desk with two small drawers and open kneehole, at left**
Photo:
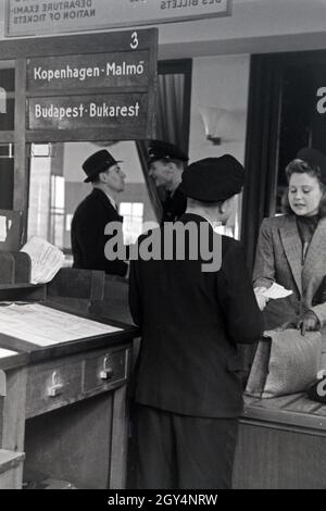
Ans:
<svg viewBox="0 0 326 511"><path fill-rule="evenodd" d="M28 298L28 285L2 288L0 297L4 292L13 299L15 291ZM30 292L36 299L43 289L34 286ZM46 348L0 335L0 347L18 351L0 359L7 376L7 396L0 397L0 488L20 488L23 478L29 486L45 479L67 481L77 488L125 485L126 384L138 331L70 312L122 329Z"/></svg>

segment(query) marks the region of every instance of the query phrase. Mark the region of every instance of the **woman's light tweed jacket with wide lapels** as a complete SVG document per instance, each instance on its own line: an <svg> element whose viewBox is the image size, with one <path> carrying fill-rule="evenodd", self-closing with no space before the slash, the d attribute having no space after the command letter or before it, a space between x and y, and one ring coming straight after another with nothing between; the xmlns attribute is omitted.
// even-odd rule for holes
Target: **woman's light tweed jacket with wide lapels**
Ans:
<svg viewBox="0 0 326 511"><path fill-rule="evenodd" d="M326 324L326 219L321 219L302 262L302 242L294 215L265 219L261 225L253 272L254 287L274 282L293 291L269 300L264 310L265 327L274 328L298 319L311 309Z"/></svg>

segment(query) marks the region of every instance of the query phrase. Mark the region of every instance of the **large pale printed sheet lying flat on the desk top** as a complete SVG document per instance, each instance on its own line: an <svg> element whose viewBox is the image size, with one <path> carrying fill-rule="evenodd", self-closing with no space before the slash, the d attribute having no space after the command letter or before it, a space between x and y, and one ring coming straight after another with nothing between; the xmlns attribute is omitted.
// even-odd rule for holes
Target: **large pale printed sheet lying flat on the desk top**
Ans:
<svg viewBox="0 0 326 511"><path fill-rule="evenodd" d="M39 303L12 303L0 307L0 334L7 334L38 346L51 346L68 340L111 334L121 329Z"/></svg>

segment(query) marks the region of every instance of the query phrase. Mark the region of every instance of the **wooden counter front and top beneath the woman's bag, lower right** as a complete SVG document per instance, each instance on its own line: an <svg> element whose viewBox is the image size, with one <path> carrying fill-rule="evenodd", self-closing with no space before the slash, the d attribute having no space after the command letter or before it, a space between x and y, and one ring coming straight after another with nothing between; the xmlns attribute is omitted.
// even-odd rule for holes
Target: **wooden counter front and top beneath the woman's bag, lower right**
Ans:
<svg viewBox="0 0 326 511"><path fill-rule="evenodd" d="M234 488L326 488L326 406L303 394L246 398Z"/></svg>

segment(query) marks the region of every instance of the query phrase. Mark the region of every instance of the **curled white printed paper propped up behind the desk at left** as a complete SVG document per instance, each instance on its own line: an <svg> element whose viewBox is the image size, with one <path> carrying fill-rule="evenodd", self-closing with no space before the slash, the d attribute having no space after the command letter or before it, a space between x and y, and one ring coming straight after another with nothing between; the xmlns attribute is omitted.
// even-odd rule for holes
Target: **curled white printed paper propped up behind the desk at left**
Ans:
<svg viewBox="0 0 326 511"><path fill-rule="evenodd" d="M32 284L46 284L63 266L64 254L46 239L33 236L21 249L28 253L32 261Z"/></svg>

